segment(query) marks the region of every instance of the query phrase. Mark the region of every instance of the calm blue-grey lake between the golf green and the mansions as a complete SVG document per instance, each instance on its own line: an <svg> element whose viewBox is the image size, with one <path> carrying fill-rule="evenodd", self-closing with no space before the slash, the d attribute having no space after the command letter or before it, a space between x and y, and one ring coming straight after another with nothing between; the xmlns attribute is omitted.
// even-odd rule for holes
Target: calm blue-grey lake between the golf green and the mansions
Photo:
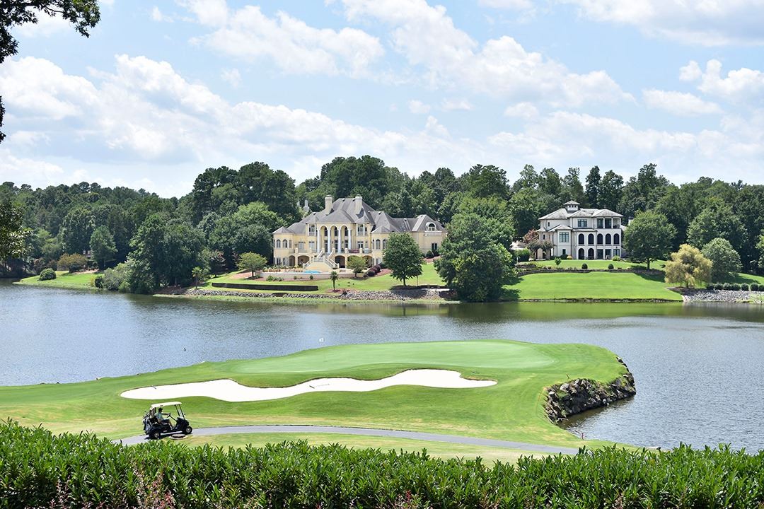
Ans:
<svg viewBox="0 0 764 509"><path fill-rule="evenodd" d="M283 305L95 294L0 279L0 385L77 382L344 343L485 338L591 343L623 358L638 394L569 424L587 438L764 449L764 307Z"/></svg>

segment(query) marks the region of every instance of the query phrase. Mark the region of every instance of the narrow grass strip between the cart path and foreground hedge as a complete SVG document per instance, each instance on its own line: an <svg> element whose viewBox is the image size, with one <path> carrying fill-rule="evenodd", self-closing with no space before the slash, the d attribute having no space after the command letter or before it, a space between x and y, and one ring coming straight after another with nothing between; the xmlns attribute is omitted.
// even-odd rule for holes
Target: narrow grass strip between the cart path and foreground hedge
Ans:
<svg viewBox="0 0 764 509"><path fill-rule="evenodd" d="M341 433L232 433L230 435L217 435L214 437L189 437L181 440L188 446L211 446L238 447L248 445L264 446L267 443L294 442L306 440L311 446L329 446L333 443L341 443L354 449L382 449L392 451L419 452L427 450L429 456L437 458L465 458L475 459L480 456L486 461L516 462L520 456L544 457L544 453L529 453L516 449L503 447L468 446L460 443L429 442L425 440L407 440L384 437L362 437L358 435L343 435Z"/></svg>

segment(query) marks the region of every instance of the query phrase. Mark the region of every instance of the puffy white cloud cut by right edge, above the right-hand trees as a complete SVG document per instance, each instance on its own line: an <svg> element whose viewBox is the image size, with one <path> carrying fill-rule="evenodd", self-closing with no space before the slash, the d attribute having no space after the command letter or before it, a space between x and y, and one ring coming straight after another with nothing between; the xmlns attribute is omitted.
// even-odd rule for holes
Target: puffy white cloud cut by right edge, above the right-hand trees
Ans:
<svg viewBox="0 0 764 509"><path fill-rule="evenodd" d="M681 68L680 78L685 81L700 79L698 90L730 102L762 104L764 101L764 72L743 67L721 74L721 62L708 60L705 72L701 72L697 62L691 61Z"/></svg>

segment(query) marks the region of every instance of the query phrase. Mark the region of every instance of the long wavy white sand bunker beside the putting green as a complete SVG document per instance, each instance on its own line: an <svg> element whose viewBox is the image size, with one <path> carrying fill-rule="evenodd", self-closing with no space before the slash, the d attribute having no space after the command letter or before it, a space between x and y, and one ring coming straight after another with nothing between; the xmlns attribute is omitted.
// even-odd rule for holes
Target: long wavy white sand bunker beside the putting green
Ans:
<svg viewBox="0 0 764 509"><path fill-rule="evenodd" d="M222 401L266 401L289 398L306 392L376 391L393 385L421 385L435 388L474 388L496 385L494 380L468 380L456 371L446 369L410 369L381 380L316 379L291 387L248 387L229 379L188 384L157 385L131 389L121 394L131 399L174 399L205 396Z"/></svg>

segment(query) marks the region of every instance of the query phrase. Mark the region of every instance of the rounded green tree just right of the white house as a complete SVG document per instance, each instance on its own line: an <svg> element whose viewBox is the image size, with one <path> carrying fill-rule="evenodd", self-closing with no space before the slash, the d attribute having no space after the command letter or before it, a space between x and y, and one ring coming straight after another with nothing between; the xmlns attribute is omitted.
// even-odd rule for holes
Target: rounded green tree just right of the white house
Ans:
<svg viewBox="0 0 764 509"><path fill-rule="evenodd" d="M635 260L650 262L669 253L676 228L663 214L653 211L639 212L623 234L623 249Z"/></svg>

